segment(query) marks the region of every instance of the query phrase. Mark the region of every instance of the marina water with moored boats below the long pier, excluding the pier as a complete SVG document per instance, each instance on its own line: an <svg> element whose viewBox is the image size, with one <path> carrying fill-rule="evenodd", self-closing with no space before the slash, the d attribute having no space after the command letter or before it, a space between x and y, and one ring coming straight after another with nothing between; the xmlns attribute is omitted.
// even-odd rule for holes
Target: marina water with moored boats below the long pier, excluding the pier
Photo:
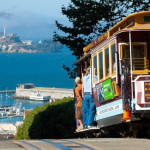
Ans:
<svg viewBox="0 0 150 150"><path fill-rule="evenodd" d="M13 99L12 93L0 96L0 124L22 122L25 110L40 107L49 101L33 101L25 99Z"/></svg>

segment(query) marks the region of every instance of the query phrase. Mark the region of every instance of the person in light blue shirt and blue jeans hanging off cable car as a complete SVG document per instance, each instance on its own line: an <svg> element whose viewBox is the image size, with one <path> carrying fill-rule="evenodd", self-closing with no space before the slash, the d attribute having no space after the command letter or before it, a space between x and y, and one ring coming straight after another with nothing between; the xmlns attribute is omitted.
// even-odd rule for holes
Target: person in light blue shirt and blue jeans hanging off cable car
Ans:
<svg viewBox="0 0 150 150"><path fill-rule="evenodd" d="M87 68L86 74L83 77L83 91L84 96L82 100L82 120L83 128L93 128L94 115L95 115L95 103L92 96L90 67ZM97 79L95 79L97 82Z"/></svg>

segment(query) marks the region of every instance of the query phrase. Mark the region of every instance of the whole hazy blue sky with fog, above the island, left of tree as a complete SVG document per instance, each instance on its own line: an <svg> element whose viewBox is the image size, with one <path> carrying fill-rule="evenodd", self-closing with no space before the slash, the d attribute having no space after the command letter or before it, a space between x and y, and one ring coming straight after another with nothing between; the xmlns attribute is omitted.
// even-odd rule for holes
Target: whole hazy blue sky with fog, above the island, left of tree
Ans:
<svg viewBox="0 0 150 150"><path fill-rule="evenodd" d="M67 18L61 6L70 0L0 0L0 32L17 33L21 40L44 40L53 36L55 20L62 24Z"/></svg>

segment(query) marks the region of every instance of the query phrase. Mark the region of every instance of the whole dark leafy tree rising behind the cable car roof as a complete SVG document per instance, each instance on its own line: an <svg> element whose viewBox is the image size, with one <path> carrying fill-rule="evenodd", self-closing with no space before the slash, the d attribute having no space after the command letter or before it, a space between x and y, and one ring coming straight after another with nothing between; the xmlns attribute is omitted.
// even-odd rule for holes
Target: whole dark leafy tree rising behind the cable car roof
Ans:
<svg viewBox="0 0 150 150"><path fill-rule="evenodd" d="M56 21L57 28L65 35L54 32L53 39L66 45L78 59L83 55L83 47L92 40L128 14L149 10L149 6L149 0L71 0L68 7L62 6L62 14L71 26ZM71 72L65 65L64 68Z"/></svg>

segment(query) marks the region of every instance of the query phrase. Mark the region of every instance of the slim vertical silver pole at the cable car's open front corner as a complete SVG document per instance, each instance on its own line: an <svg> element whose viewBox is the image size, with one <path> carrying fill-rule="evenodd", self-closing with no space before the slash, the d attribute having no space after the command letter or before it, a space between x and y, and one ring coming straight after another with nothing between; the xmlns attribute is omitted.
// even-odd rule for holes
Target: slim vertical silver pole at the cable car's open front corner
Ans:
<svg viewBox="0 0 150 150"><path fill-rule="evenodd" d="M131 47L131 31L129 31L129 44L130 44L130 74L131 74L131 98L133 108L133 84L132 84L132 47Z"/></svg>

